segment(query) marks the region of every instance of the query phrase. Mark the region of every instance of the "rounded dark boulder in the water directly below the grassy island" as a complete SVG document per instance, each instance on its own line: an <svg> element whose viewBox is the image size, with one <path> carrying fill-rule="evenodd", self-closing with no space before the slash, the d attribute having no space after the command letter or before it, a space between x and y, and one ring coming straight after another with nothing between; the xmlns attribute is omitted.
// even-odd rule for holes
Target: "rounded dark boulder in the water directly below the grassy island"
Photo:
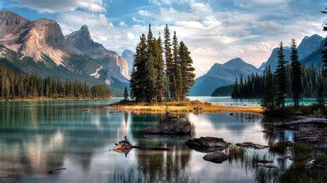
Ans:
<svg viewBox="0 0 327 183"><path fill-rule="evenodd" d="M190 121L186 118L178 118L170 116L159 121L159 124L146 127L144 133L157 133L157 134L189 134L191 131Z"/></svg>

